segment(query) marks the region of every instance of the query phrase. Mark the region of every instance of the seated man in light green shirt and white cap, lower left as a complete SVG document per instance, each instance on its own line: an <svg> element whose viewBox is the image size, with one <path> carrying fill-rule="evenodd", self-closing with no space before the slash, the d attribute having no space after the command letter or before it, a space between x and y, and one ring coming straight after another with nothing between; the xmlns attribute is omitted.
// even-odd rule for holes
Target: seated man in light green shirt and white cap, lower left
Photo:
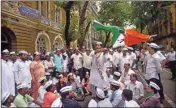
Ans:
<svg viewBox="0 0 176 108"><path fill-rule="evenodd" d="M29 92L29 85L28 84L20 84L17 86L18 89L18 95L15 97L14 104L17 107L29 107L30 104L33 102L39 106L41 106L41 103L37 100L34 100L33 97L28 95ZM33 106L34 107L34 106Z"/></svg>

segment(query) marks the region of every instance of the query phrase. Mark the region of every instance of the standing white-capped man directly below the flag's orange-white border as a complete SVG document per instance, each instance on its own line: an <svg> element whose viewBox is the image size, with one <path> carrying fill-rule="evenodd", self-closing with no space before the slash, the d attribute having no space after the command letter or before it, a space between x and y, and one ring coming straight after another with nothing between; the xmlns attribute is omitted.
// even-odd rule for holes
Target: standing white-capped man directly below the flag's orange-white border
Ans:
<svg viewBox="0 0 176 108"><path fill-rule="evenodd" d="M122 75L124 75L124 64L126 61L130 61L130 57L127 55L127 48L123 48L122 49L122 53L123 55L120 57L120 72L122 73Z"/></svg>

